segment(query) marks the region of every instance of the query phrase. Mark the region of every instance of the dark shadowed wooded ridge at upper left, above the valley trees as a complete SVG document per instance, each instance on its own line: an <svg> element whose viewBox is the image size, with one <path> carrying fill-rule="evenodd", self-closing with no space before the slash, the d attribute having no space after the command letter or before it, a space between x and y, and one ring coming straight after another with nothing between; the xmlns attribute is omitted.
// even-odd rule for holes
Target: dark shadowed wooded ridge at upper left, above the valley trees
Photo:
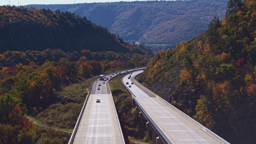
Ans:
<svg viewBox="0 0 256 144"><path fill-rule="evenodd" d="M122 38L74 13L0 6L0 53L6 50L131 52Z"/></svg>

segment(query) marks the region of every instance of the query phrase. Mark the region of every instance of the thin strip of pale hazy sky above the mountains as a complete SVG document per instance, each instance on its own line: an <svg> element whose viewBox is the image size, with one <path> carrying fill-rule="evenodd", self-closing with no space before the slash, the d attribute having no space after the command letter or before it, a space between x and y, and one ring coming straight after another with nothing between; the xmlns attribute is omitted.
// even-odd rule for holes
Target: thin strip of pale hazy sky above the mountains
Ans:
<svg viewBox="0 0 256 144"><path fill-rule="evenodd" d="M74 0L0 0L0 6L2 5L27 5L27 4L74 4ZM92 2L132 2L132 1L145 1L145 0L76 0L77 3L92 3Z"/></svg>

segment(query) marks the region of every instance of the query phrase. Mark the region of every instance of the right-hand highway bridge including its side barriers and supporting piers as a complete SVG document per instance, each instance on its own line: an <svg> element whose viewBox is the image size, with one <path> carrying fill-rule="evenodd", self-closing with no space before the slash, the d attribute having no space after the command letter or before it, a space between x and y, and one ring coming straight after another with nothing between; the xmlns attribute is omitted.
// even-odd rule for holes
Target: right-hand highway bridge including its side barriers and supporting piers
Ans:
<svg viewBox="0 0 256 144"><path fill-rule="evenodd" d="M136 82L134 78L141 72L124 76L122 83L132 95L139 116L146 120L153 144L229 144Z"/></svg>

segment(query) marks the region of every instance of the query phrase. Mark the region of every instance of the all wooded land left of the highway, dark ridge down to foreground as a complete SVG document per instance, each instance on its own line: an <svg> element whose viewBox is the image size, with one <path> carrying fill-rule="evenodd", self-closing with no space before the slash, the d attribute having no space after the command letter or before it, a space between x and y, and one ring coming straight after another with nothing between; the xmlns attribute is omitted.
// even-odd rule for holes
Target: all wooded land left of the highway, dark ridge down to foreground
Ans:
<svg viewBox="0 0 256 144"><path fill-rule="evenodd" d="M27 116L72 131L90 74L145 66L153 55L69 12L0 6L0 13L0 144L67 144L71 133Z"/></svg>

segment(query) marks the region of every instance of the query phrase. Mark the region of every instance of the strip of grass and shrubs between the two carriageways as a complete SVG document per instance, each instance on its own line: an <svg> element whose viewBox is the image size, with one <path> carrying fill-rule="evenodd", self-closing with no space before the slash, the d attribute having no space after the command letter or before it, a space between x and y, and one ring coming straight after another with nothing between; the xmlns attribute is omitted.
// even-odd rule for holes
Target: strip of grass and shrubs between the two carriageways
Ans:
<svg viewBox="0 0 256 144"><path fill-rule="evenodd" d="M121 84L121 77L117 76L110 80L110 90L113 95L126 144L134 144L135 141L145 139L144 137L147 134L146 124L139 118L138 112L132 106L132 97Z"/></svg>

